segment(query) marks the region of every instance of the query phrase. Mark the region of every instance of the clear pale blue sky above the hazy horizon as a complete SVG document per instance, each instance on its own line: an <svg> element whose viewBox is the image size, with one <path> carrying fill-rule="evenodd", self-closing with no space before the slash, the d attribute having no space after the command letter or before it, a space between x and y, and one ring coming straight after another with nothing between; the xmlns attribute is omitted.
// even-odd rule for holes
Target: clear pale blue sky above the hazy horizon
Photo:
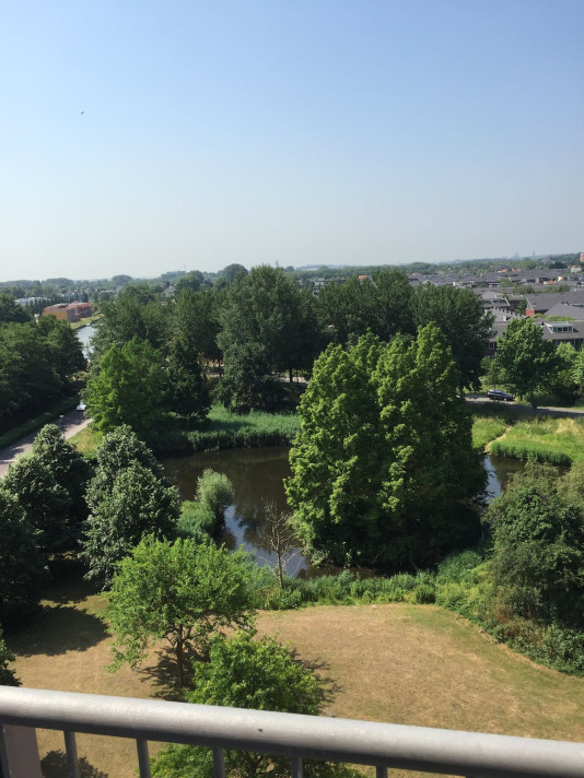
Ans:
<svg viewBox="0 0 584 778"><path fill-rule="evenodd" d="M583 0L4 0L0 280L584 250Z"/></svg>

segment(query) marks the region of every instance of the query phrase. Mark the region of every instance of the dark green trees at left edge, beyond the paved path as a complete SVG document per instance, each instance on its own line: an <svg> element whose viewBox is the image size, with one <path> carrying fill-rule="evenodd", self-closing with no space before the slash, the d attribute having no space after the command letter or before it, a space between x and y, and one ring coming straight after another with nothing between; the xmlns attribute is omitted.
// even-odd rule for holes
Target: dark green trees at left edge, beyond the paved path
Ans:
<svg viewBox="0 0 584 778"><path fill-rule="evenodd" d="M72 377L85 367L81 343L67 321L52 316L22 321L19 314L0 300L0 426L4 428L70 394Z"/></svg>

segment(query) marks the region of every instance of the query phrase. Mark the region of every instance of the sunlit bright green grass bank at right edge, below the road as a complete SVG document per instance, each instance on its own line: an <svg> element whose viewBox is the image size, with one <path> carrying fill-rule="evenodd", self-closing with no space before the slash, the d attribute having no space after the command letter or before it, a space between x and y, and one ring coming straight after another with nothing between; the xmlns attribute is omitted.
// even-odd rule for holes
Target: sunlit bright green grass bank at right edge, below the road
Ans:
<svg viewBox="0 0 584 778"><path fill-rule="evenodd" d="M572 464L584 460L584 420L535 416L517 422L489 452L533 462Z"/></svg>

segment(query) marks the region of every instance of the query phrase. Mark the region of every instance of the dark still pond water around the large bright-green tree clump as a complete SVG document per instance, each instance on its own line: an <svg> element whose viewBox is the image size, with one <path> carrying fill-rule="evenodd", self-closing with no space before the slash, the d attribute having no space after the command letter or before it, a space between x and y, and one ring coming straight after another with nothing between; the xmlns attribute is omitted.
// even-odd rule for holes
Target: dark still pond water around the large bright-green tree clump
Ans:
<svg viewBox="0 0 584 778"><path fill-rule="evenodd" d="M230 549L243 546L258 564L276 565L276 554L266 549L261 539L266 502L276 503L280 510L288 509L283 479L290 473L289 448L265 447L201 451L180 459L162 462L166 475L176 484L183 499L192 499L197 479L210 468L225 473L233 484L235 502L225 514L225 531L221 540ZM524 463L504 457L486 457L489 476L488 498L501 493L511 474L523 469ZM288 561L287 570L292 576L309 576L315 571L300 552ZM319 568L323 573L323 568Z"/></svg>

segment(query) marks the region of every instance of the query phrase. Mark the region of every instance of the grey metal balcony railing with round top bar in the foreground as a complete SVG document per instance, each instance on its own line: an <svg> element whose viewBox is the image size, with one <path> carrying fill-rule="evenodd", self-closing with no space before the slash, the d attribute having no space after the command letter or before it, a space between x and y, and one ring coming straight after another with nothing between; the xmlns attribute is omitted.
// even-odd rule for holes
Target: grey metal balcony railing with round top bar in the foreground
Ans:
<svg viewBox="0 0 584 778"><path fill-rule="evenodd" d="M79 778L75 732L130 738L141 778L150 778L148 741L213 750L224 778L225 748L284 755L293 778L303 759L372 765L468 778L583 778L584 744L273 714L186 703L0 686L1 754L7 778L40 778L36 728L65 733L70 778Z"/></svg>

